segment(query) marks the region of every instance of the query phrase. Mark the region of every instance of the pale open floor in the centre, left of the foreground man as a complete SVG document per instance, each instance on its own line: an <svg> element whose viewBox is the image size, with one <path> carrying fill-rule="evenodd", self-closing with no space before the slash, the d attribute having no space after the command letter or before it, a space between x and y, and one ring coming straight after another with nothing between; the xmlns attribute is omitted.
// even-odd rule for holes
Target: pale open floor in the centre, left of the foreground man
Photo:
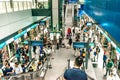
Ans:
<svg viewBox="0 0 120 80"><path fill-rule="evenodd" d="M56 80L61 74L64 73L65 68L68 65L67 60L74 60L73 50L72 49L63 49L57 50L56 53L53 53L52 56L52 69L49 69L46 74L45 80Z"/></svg>

